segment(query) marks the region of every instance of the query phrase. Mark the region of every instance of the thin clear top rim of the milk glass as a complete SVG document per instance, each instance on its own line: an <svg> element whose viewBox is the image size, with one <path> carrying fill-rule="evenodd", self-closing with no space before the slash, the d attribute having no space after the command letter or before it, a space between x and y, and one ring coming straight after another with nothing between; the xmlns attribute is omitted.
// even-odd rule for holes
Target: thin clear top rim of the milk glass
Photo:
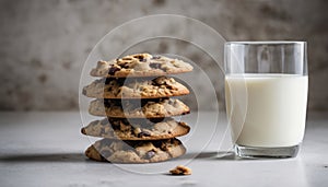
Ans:
<svg viewBox="0 0 328 187"><path fill-rule="evenodd" d="M305 40L236 40L226 42L225 45L286 45L286 44L301 44L305 45Z"/></svg>

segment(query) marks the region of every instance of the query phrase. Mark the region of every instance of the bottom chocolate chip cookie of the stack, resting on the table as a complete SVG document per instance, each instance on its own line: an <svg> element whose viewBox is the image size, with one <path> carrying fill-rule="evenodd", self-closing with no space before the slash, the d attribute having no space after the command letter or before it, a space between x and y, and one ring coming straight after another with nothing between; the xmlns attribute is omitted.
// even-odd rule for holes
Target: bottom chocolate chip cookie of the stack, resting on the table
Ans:
<svg viewBox="0 0 328 187"><path fill-rule="evenodd" d="M186 148L177 139L157 141L103 139L89 147L85 155L91 160L112 163L152 163L167 161L185 152Z"/></svg>

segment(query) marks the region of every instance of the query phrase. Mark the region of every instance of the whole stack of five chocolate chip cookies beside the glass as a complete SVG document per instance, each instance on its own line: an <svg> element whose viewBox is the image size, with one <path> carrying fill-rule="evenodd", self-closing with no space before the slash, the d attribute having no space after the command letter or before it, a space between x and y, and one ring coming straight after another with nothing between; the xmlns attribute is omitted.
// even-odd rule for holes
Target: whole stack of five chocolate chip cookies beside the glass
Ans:
<svg viewBox="0 0 328 187"><path fill-rule="evenodd" d="M189 90L166 75L189 71L189 63L149 54L98 61L91 75L101 79L84 86L83 94L95 98L89 113L104 118L81 131L103 139L87 148L85 155L113 163L161 162L183 155L186 149L175 137L190 128L172 117L189 114L189 107L172 96L189 94Z"/></svg>

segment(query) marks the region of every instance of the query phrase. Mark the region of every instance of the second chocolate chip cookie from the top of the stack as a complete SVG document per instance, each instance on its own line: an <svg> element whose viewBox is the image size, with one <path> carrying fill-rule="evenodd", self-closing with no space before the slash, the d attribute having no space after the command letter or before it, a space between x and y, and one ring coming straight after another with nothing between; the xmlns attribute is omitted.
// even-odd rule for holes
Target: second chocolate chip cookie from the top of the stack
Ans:
<svg viewBox="0 0 328 187"><path fill-rule="evenodd" d="M173 78L139 78L95 80L82 92L94 98L159 98L189 94L189 90Z"/></svg>

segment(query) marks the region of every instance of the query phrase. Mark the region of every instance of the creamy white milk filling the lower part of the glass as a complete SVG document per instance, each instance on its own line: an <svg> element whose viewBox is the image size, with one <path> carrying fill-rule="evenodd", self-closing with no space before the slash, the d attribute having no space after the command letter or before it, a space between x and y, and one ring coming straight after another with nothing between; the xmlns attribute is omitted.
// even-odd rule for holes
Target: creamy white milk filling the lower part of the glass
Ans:
<svg viewBox="0 0 328 187"><path fill-rule="evenodd" d="M226 112L233 141L266 148L302 142L307 84L306 75L296 74L226 75Z"/></svg>

